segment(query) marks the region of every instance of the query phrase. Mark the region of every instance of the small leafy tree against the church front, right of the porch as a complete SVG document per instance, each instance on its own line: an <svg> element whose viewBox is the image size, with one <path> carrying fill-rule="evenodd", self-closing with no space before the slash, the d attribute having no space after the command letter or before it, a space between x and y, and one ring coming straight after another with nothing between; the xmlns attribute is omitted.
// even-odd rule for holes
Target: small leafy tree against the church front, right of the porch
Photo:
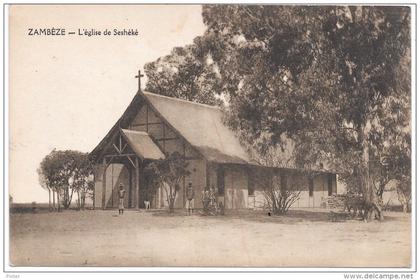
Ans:
<svg viewBox="0 0 420 280"><path fill-rule="evenodd" d="M150 185L164 190L171 213L174 212L181 181L190 174L187 167L188 162L178 152L167 155L165 159L153 161L147 166L152 177L150 182L154 182Z"/></svg>

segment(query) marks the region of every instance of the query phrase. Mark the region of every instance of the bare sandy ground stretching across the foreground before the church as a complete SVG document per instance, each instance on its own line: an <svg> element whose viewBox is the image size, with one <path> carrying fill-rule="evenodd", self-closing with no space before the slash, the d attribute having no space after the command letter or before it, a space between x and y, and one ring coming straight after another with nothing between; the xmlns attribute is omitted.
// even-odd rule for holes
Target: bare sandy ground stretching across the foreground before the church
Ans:
<svg viewBox="0 0 420 280"><path fill-rule="evenodd" d="M409 267L410 215L331 222L322 210L223 217L166 212L12 214L15 266Z"/></svg>

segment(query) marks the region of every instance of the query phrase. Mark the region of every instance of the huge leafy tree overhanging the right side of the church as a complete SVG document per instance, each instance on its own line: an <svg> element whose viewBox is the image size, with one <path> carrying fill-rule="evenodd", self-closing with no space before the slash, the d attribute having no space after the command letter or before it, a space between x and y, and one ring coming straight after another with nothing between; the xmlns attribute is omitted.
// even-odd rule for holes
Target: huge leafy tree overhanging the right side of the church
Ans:
<svg viewBox="0 0 420 280"><path fill-rule="evenodd" d="M229 96L227 123L245 141L259 138L262 155L286 135L297 163L350 166L367 217L382 219L370 159L409 119L407 110L390 114L391 103L410 96L409 68L400 67L409 8L214 5L203 18L201 48Z"/></svg>

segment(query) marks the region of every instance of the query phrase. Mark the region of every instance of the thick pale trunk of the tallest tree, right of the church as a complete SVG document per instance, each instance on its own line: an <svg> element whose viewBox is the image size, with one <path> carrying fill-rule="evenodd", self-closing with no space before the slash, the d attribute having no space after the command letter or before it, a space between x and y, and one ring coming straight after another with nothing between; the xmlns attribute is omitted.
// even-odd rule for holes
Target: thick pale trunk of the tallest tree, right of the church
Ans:
<svg viewBox="0 0 420 280"><path fill-rule="evenodd" d="M374 189L374 184L371 182L369 174L369 142L366 139L366 127L360 127L358 130L358 140L362 146L361 166L359 167L359 176L361 183L361 190L365 201L365 220L372 220L373 215L379 220L383 220L382 207L378 193Z"/></svg>

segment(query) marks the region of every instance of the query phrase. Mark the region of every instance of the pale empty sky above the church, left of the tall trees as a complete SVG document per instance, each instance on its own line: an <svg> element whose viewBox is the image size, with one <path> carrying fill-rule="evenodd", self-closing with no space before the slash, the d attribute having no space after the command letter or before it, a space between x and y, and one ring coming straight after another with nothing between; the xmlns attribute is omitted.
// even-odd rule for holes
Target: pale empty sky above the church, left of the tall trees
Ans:
<svg viewBox="0 0 420 280"><path fill-rule="evenodd" d="M65 28L76 34L29 36L29 28ZM139 36L79 36L79 28L133 28ZM90 152L136 94L137 71L173 47L192 43L204 30L199 5L12 6L8 73L13 201L47 202L36 171L43 157L54 148Z"/></svg>

